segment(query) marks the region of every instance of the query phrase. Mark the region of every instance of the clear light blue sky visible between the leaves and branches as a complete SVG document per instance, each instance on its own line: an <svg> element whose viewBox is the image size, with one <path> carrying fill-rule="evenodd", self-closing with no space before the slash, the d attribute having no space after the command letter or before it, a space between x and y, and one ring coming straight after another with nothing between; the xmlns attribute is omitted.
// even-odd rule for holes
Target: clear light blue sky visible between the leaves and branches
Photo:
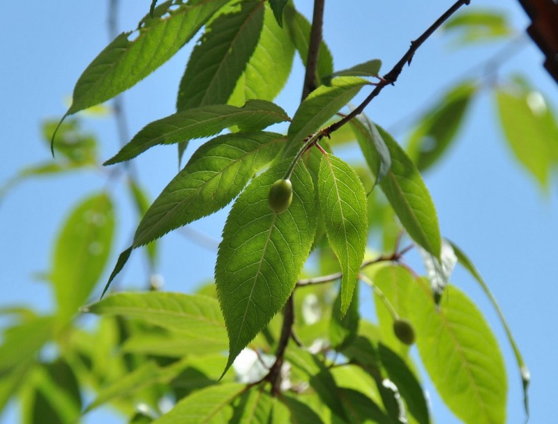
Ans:
<svg viewBox="0 0 558 424"><path fill-rule="evenodd" d="M0 182L22 167L50 159L40 136L45 118L61 116L68 106L75 81L86 65L109 42L108 1L6 1L0 26L1 162ZM119 28L135 28L149 9L149 1L121 0ZM409 45L452 1L326 1L324 38L335 69L380 58L386 72ZM312 1L296 6L311 16ZM516 1L472 0L469 7L494 7L506 11L518 31L527 17ZM396 86L387 87L366 112L393 131L402 143L417 111L435 102L455 81L478 77L475 65L502 49L499 43L455 50L445 36L434 36L419 49L412 66L405 68ZM130 136L152 120L174 112L179 79L190 48L123 95ZM527 75L531 84L558 105L558 85L542 68L543 57L531 42L502 66L497 81L514 72ZM301 64L296 58L295 76L276 102L289 114L299 103ZM358 100L358 99L357 99ZM444 160L425 175L437 206L444 236L474 260L499 300L531 369L531 423L558 422L555 398L558 381L557 236L558 191L554 175L543 193L534 179L515 162L497 124L495 101L486 90L476 97L465 129ZM114 118L87 118L86 129L101 141L100 157L118 150ZM529 140L525 140L529 143ZM187 154L199 142L192 143ZM153 148L137 161L140 181L152 198L174 176L176 149ZM106 173L82 172L24 182L0 204L0 305L26 304L47 313L53 305L50 289L33 279L34 272L50 268L50 251L65 214L81 198L105 187ZM114 187L118 203L114 264L119 251L133 234L134 215L127 194ZM191 227L218 242L227 214L218 212ZM211 243L210 243L211 244ZM158 272L165 290L191 291L213 277L216 249L199 246L178 232L167 235L160 246ZM411 258L411 261L414 259ZM416 262L418 263L418 262ZM107 272L110 270L107 269ZM124 287L145 285L142 255L135 253L121 278ZM476 301L492 325L508 369L508 423L523 423L522 393L515 360L502 326L481 290L464 273L453 282ZM101 287L98 288L100 292ZM1 324L1 321L0 321ZM433 416L438 423L458 423L427 383ZM103 413L105 414L105 413ZM109 423L91 416L87 423ZM15 422L14 408L0 416L0 423ZM108 419L108 418L106 418ZM123 422L122 420L115 420Z"/></svg>

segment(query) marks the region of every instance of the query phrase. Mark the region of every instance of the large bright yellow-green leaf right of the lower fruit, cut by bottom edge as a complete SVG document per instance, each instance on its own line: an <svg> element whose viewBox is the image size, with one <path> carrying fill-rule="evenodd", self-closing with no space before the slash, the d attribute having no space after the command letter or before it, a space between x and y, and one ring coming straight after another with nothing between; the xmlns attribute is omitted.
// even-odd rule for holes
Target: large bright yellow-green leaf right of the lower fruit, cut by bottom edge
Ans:
<svg viewBox="0 0 558 424"><path fill-rule="evenodd" d="M416 345L448 407L467 424L506 422L506 368L481 312L448 285L439 311L425 281L412 285Z"/></svg>

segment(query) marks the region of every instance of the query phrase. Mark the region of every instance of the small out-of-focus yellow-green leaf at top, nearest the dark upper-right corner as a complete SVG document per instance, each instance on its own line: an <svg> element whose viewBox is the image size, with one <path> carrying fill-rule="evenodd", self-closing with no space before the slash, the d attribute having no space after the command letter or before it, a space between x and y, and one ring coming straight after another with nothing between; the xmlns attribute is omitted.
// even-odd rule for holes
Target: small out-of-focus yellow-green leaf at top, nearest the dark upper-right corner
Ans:
<svg viewBox="0 0 558 424"><path fill-rule="evenodd" d="M506 15L488 8L462 11L448 19L442 31L455 34L458 45L504 38L513 33Z"/></svg>

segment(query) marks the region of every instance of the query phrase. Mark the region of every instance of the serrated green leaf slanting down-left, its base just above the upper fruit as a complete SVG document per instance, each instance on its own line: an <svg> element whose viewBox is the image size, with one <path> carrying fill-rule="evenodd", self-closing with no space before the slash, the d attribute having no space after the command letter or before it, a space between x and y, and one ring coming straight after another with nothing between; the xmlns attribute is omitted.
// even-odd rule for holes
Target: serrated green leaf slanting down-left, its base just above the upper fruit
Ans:
<svg viewBox="0 0 558 424"><path fill-rule="evenodd" d="M237 132L205 143L146 212L133 246L225 207L284 144L284 136L273 132Z"/></svg>

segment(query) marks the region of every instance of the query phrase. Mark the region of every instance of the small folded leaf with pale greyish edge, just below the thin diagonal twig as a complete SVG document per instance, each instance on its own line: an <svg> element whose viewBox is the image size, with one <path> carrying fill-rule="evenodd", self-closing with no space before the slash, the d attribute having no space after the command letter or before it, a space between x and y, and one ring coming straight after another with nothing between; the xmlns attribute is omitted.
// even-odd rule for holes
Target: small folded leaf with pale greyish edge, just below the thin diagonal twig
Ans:
<svg viewBox="0 0 558 424"><path fill-rule="evenodd" d="M376 125L365 114L361 113L354 119L349 120L349 125L356 136L356 141L359 142L366 164L368 164L372 174L376 176L374 182L374 185L376 185L384 179L389 172L389 168L391 168L388 146L379 134Z"/></svg>

